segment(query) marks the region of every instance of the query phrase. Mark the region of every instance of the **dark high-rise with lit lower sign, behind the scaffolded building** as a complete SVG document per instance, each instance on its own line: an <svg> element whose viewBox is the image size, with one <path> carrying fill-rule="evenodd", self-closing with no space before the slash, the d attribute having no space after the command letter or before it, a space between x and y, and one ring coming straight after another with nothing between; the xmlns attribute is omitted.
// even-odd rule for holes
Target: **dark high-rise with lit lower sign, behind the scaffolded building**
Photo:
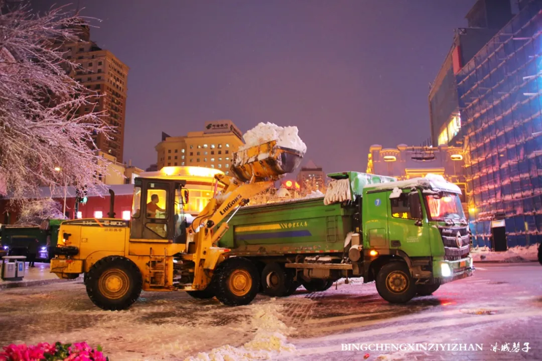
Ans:
<svg viewBox="0 0 542 361"><path fill-rule="evenodd" d="M461 146L462 119L456 74L512 18L510 0L479 0L466 16L467 28L455 29L454 40L429 89L433 146Z"/></svg>

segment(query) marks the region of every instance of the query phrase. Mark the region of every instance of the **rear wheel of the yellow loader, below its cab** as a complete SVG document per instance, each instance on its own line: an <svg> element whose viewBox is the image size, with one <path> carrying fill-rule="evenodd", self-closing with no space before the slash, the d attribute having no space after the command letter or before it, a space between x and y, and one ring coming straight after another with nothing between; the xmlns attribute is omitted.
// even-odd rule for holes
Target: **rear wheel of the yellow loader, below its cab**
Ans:
<svg viewBox="0 0 542 361"><path fill-rule="evenodd" d="M139 298L143 278L131 260L109 256L86 273L85 286L88 297L100 309L119 311L128 309Z"/></svg>

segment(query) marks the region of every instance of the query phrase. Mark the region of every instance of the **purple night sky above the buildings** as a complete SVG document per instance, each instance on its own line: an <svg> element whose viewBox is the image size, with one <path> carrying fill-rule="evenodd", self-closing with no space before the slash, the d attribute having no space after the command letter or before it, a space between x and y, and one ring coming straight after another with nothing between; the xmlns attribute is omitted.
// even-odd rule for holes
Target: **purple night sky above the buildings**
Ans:
<svg viewBox="0 0 542 361"><path fill-rule="evenodd" d="M35 0L34 9L72 1ZM91 38L130 67L125 159L161 132L231 119L295 125L326 173L365 171L372 144L430 136L429 83L475 0L81 0Z"/></svg>

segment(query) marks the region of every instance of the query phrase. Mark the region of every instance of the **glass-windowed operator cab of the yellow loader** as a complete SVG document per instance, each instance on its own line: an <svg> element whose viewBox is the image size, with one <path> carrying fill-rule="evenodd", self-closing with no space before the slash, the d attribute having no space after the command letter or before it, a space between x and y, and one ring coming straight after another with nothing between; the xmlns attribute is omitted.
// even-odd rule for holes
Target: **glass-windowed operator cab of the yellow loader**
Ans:
<svg viewBox="0 0 542 361"><path fill-rule="evenodd" d="M132 240L185 243L188 204L185 180L136 178L132 204Z"/></svg>

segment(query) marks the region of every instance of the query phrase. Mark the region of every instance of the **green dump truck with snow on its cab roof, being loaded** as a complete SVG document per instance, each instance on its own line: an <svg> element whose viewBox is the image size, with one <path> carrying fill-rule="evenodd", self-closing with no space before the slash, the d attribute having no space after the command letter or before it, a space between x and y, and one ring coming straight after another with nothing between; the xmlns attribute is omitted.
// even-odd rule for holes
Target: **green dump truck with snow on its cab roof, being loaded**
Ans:
<svg viewBox="0 0 542 361"><path fill-rule="evenodd" d="M325 198L242 207L229 221L219 246L253 260L261 291L289 296L363 277L385 300L405 303L473 274L459 187L433 175L328 177Z"/></svg>

